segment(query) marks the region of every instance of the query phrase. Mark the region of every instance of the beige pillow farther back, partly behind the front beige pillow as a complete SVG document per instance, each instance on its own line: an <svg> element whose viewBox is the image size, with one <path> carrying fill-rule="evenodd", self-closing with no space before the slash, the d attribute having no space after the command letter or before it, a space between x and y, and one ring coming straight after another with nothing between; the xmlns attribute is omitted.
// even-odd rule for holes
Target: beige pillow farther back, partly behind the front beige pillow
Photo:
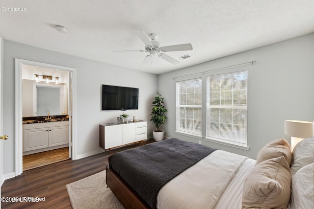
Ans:
<svg viewBox="0 0 314 209"><path fill-rule="evenodd" d="M264 146L257 155L256 163L285 156L288 165L291 164L292 154L288 141L286 139L278 139Z"/></svg>

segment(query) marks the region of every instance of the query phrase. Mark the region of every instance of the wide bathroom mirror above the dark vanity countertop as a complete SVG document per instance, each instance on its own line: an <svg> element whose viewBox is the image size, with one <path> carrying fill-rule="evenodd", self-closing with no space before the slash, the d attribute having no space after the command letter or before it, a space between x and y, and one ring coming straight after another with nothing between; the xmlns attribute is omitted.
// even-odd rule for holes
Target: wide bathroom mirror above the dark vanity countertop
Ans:
<svg viewBox="0 0 314 209"><path fill-rule="evenodd" d="M66 84L23 79L23 117L67 115Z"/></svg>

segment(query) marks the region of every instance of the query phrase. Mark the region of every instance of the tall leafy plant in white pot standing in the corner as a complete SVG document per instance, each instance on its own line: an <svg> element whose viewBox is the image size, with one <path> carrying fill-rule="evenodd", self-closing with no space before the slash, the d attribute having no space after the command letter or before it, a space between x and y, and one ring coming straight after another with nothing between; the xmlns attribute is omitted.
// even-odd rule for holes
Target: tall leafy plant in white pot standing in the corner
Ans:
<svg viewBox="0 0 314 209"><path fill-rule="evenodd" d="M153 138L156 141L161 141L163 139L164 132L163 130L160 130L159 127L167 120L167 117L165 116L167 110L165 109L165 106L163 106L163 97L161 97L161 94L158 93L158 95L155 96L152 106L151 121L156 126L156 130L153 131Z"/></svg>

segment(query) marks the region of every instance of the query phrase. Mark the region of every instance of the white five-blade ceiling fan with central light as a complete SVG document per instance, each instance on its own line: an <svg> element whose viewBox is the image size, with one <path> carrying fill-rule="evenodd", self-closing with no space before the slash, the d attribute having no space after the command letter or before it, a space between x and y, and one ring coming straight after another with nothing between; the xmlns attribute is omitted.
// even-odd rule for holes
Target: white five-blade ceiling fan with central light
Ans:
<svg viewBox="0 0 314 209"><path fill-rule="evenodd" d="M144 42L145 50L123 50L123 51L134 51L134 52L141 52L141 53L148 52L149 55L147 55L144 58L142 65L146 63L148 60L151 60L151 62L153 63L154 56L158 56L161 59L164 59L165 61L170 62L173 65L178 65L180 63L179 60L176 60L175 58L165 54L164 52L193 50L193 47L191 44L161 46L160 43L156 41L157 35L155 33L150 34L149 35L150 39L149 39L143 30L133 29L133 31L142 40L142 42ZM122 52L122 51L113 51L113 52Z"/></svg>

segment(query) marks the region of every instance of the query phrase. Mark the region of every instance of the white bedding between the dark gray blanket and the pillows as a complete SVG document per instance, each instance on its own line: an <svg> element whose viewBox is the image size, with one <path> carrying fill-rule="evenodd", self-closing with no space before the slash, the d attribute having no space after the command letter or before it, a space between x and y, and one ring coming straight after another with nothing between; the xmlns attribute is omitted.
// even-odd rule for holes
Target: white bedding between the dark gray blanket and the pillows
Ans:
<svg viewBox="0 0 314 209"><path fill-rule="evenodd" d="M216 209L230 204L234 208L233 203L241 204L242 198L243 183L237 181L243 182L254 164L247 157L216 150L163 186L157 195L157 209L214 209L217 203ZM227 196L220 198L225 190Z"/></svg>

